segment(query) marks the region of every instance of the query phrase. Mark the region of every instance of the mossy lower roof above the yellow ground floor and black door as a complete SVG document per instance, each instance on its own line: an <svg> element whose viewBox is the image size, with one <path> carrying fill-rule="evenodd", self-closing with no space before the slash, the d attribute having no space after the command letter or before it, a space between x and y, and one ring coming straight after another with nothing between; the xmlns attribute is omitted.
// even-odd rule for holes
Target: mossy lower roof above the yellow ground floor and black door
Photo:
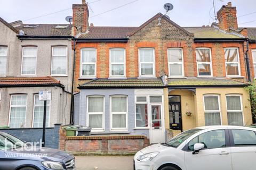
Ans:
<svg viewBox="0 0 256 170"><path fill-rule="evenodd" d="M169 87L218 87L218 86L247 86L249 84L236 81L233 79L223 78L223 79L204 79L204 78L195 78L195 79L169 79Z"/></svg>

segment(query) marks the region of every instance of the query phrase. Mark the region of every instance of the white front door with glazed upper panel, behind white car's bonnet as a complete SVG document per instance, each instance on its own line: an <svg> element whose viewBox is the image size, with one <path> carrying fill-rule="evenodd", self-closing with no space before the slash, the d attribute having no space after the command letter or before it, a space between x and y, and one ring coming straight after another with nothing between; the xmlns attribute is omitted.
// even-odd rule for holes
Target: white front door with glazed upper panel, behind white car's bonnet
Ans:
<svg viewBox="0 0 256 170"><path fill-rule="evenodd" d="M161 143L164 141L162 113L162 105L150 105L150 143Z"/></svg>

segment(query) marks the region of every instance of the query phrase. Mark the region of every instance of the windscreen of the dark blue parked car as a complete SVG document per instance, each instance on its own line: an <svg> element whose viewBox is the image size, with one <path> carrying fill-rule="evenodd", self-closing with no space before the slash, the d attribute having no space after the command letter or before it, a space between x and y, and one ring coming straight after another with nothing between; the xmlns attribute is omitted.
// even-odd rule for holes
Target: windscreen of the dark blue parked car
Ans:
<svg viewBox="0 0 256 170"><path fill-rule="evenodd" d="M23 147L25 142L7 133L0 133L0 149L11 150Z"/></svg>

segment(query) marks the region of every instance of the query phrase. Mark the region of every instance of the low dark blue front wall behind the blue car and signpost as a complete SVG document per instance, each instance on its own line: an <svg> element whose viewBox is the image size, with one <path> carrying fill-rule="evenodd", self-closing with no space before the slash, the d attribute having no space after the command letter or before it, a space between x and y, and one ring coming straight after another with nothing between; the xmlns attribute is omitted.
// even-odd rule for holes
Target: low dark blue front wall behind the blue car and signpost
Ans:
<svg viewBox="0 0 256 170"><path fill-rule="evenodd" d="M59 149L59 130L61 124L54 124L54 128L46 128L45 147ZM0 129L1 132L9 133L27 142L39 142L42 139L42 128L17 128Z"/></svg>

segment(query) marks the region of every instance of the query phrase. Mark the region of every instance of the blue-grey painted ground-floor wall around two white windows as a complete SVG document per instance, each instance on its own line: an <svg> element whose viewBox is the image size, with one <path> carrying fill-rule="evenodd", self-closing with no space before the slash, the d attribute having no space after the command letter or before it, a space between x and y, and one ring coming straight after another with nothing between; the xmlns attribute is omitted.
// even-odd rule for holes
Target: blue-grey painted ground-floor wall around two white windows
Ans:
<svg viewBox="0 0 256 170"><path fill-rule="evenodd" d="M75 98L76 124L86 125L86 106L87 96L103 95L105 96L105 131L92 132L91 134L113 134L113 133L127 133L127 134L145 134L149 137L148 129L134 129L135 128L135 104L134 104L134 89L81 89L80 94ZM111 95L126 95L128 96L128 130L127 131L110 131L110 96ZM77 101L79 98L79 101ZM79 102L79 104L77 104ZM77 117L79 115L79 117Z"/></svg>

